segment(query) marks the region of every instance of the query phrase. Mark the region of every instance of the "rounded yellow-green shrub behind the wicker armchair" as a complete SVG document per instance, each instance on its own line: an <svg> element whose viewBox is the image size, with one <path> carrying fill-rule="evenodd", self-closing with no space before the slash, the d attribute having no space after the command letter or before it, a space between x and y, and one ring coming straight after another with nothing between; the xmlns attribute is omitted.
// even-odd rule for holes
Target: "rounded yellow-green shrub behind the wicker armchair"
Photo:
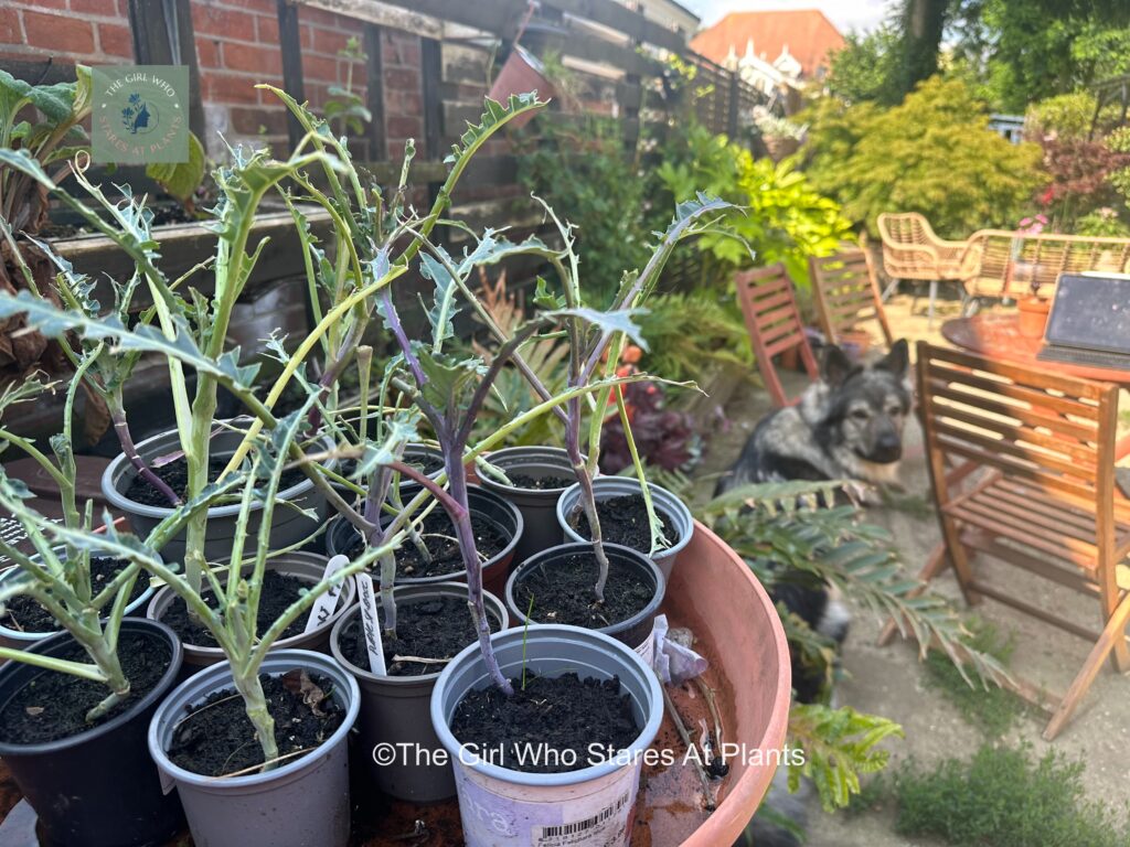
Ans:
<svg viewBox="0 0 1130 847"><path fill-rule="evenodd" d="M880 110L825 98L807 116L812 186L875 233L885 211L918 211L944 236L1011 227L1044 181L1041 150L989 129L966 84L933 77Z"/></svg>

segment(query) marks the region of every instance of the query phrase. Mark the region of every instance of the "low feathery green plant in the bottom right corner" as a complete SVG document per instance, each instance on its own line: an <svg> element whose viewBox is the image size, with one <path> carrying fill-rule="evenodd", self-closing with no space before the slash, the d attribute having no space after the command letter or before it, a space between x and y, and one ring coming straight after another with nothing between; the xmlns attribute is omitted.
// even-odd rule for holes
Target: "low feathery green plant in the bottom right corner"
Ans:
<svg viewBox="0 0 1130 847"><path fill-rule="evenodd" d="M903 768L896 830L957 847L1125 847L1130 831L1110 807L1086 800L1083 765L1049 751L984 744L971 761L931 771Z"/></svg>

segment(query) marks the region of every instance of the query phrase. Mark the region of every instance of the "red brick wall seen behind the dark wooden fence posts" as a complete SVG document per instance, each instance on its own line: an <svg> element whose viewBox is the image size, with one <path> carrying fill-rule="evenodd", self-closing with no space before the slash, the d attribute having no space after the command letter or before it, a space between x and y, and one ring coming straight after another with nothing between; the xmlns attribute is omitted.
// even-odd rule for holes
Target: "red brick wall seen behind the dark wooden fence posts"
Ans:
<svg viewBox="0 0 1130 847"><path fill-rule="evenodd" d="M0 59L55 63L116 64L133 61L127 0L0 0ZM298 11L305 95L315 111L332 85L345 85L349 60L338 55L359 21L302 8ZM257 138L285 142L286 110L257 82L282 87L275 0L192 0L206 142L221 155L221 132L229 142ZM405 139L424 136L420 95L420 40L383 30L385 141L398 157ZM365 96L367 69L354 64L354 89ZM364 142L355 155L367 157Z"/></svg>

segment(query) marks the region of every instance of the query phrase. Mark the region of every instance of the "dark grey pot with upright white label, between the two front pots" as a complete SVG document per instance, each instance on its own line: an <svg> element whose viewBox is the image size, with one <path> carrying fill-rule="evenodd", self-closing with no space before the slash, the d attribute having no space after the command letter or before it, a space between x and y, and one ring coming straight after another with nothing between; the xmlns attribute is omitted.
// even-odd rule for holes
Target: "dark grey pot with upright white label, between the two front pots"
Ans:
<svg viewBox="0 0 1130 847"><path fill-rule="evenodd" d="M436 583L433 585L401 585L393 590L399 606L414 601L434 597L467 600L464 583ZM506 606L489 592L483 593L487 613L505 629L510 626ZM433 751L440 740L432 726L429 704L432 689L440 671L420 676L385 676L358 667L341 654L339 639L346 628L360 614L360 606L350 609L333 626L330 649L342 667L357 678L360 687L360 714L357 717L356 751L373 783L397 800L411 803L433 803L455 796L455 778L449 762L434 758L416 759L412 753L399 753L389 763L377 763L374 752L379 744L392 744L397 751ZM403 746L400 746L403 745ZM383 761L383 760L382 760Z"/></svg>

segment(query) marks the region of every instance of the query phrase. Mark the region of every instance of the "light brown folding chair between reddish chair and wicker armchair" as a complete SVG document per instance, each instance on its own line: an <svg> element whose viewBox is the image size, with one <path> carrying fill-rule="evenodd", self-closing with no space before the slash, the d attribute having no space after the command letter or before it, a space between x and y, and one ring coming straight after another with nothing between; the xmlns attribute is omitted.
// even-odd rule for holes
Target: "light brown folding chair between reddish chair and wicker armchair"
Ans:
<svg viewBox="0 0 1130 847"><path fill-rule="evenodd" d="M844 247L831 256L809 256L808 273L820 329L829 343L842 344L850 333L860 331L860 324L873 321L889 349L894 339L867 251Z"/></svg>

